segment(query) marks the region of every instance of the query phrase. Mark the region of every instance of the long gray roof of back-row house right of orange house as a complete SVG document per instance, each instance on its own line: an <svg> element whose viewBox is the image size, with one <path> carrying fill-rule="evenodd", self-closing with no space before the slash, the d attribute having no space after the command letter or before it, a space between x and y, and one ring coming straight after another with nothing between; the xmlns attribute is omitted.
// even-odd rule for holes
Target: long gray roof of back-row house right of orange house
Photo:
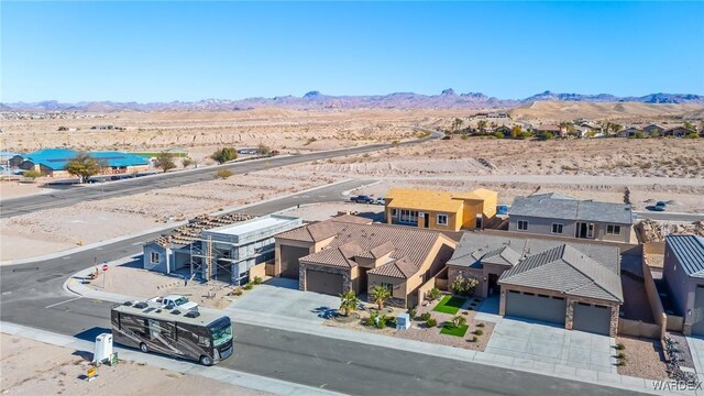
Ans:
<svg viewBox="0 0 704 396"><path fill-rule="evenodd" d="M598 221L615 224L631 224L630 205L576 200L572 198L538 195L516 197L508 216L525 216L543 219Z"/></svg>

